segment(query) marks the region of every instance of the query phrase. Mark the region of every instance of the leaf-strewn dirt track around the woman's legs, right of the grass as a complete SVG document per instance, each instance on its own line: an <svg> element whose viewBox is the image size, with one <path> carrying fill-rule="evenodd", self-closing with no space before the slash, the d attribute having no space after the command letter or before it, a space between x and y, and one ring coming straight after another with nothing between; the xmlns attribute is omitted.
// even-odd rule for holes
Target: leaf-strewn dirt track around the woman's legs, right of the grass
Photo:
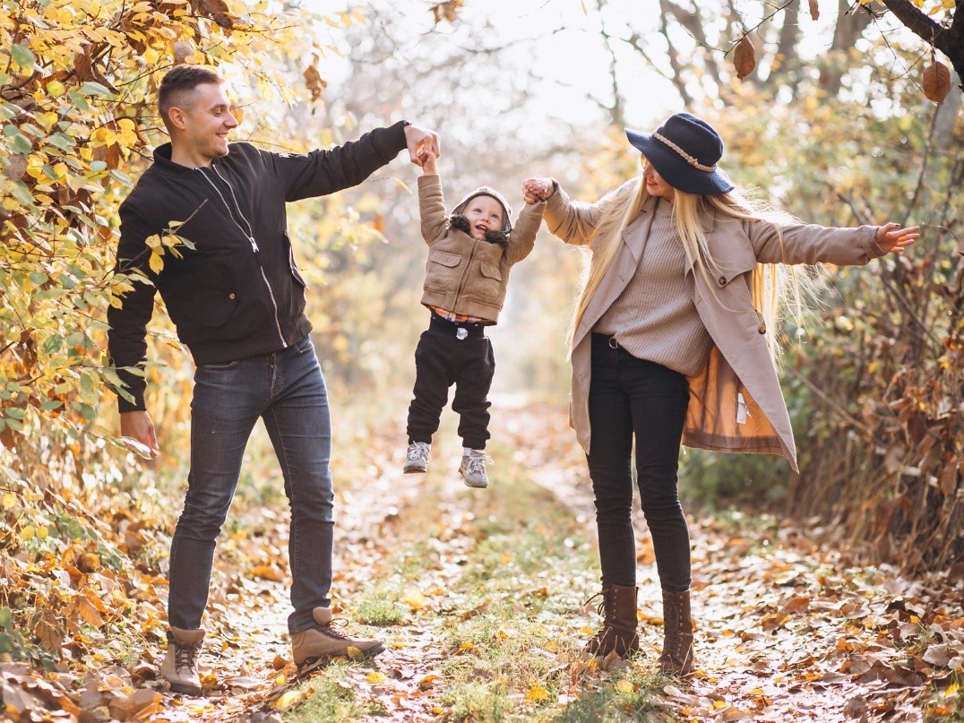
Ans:
<svg viewBox="0 0 964 723"><path fill-rule="evenodd" d="M514 417L520 429L553 419L549 410L535 414L524 405ZM555 417L553 432L564 423ZM535 481L595 535L593 495L584 464L576 464L581 453L571 445L546 451L528 450ZM655 659L660 591L638 498L635 510L641 641ZM950 668L934 663L948 656L950 667L954 656L958 667L964 662L960 584L846 568L840 552L776 523L755 529L704 520L691 522L690 533L698 670L691 681L665 687L673 713L694 720L923 720L927 684L953 684Z"/></svg>

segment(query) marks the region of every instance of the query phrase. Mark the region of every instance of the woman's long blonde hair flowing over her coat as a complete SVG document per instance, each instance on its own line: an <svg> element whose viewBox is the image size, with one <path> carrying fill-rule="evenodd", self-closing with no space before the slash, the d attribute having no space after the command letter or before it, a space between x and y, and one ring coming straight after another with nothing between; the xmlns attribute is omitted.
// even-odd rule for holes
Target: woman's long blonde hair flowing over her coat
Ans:
<svg viewBox="0 0 964 723"><path fill-rule="evenodd" d="M570 345L582 315L616 257L622 243L623 230L639 215L649 199L643 176L638 174L607 194L597 204L599 216L590 242L593 253L585 282L576 301L576 311L570 328ZM770 224L776 229L781 247L783 226L796 223L796 219L790 214L776 211L771 206L756 201L745 190L699 196L675 189L673 221L683 242L683 249L693 262L696 273L703 276L714 295L716 284L713 280L718 276L727 276L710 254L709 234L712 223L718 216ZM818 281L815 274L797 274L792 266L785 264L757 263L753 270L750 283L753 308L761 314L763 323L770 331L770 334L766 335L766 346L774 363L780 361L783 351L776 334L779 322L788 309L798 324L802 322L808 305L816 298Z"/></svg>

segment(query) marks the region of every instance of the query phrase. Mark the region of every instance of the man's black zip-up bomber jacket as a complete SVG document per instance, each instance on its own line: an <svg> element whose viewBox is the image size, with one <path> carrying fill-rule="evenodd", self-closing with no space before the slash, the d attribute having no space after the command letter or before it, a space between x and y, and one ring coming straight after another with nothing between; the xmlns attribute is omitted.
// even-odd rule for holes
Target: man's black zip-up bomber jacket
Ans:
<svg viewBox="0 0 964 723"><path fill-rule="evenodd" d="M305 281L291 251L284 204L361 183L405 147L406 124L304 154L233 143L228 155L198 169L174 163L171 144L154 150L153 164L120 204L115 270L137 270L154 283L136 283L120 308L108 310L108 351L134 397L118 397L120 412L145 409L145 380L121 367L146 359L155 290L197 364L267 354L308 335ZM146 240L169 230L194 249L178 246L179 258L166 251L163 269L154 274Z"/></svg>

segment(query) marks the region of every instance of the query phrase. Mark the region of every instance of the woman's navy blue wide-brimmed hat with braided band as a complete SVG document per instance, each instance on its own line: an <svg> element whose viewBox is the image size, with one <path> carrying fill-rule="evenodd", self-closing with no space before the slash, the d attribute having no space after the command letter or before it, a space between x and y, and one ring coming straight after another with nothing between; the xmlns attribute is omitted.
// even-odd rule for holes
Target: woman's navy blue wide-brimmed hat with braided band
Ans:
<svg viewBox="0 0 964 723"><path fill-rule="evenodd" d="M651 136L629 128L626 136L673 188L699 196L734 189L726 174L716 168L723 156L723 141L706 120L677 113Z"/></svg>

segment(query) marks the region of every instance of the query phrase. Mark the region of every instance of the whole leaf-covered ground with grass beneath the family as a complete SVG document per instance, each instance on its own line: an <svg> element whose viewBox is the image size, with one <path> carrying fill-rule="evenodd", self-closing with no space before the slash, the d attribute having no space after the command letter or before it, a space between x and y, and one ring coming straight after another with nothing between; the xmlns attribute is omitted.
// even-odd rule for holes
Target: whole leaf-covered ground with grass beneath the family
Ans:
<svg viewBox="0 0 964 723"><path fill-rule="evenodd" d="M382 656L336 660L301 676L294 668L284 632L286 516L281 478L268 460L261 489L275 485L274 498L241 500L219 545L204 623L203 697L171 695L158 680L163 565L126 576L75 566L86 577L68 573L63 584L82 580L86 590L103 592L120 578L122 588L139 591L126 596L136 604L76 596L81 623L73 629L87 636L85 655L71 659L67 647L50 671L10 656L0 661L6 715L272 722L964 718L960 581L907 580L886 566L851 566L845 551L773 519L716 516L692 524L697 670L681 681L656 674L659 588L645 523L636 515L641 655L583 660L581 641L599 624L592 607L583 607L598 592L584 457L564 413L509 398L496 409L494 484L481 493L461 485L454 442L437 444L429 474L405 475L398 425L375 424L382 415L352 409L335 427L333 608L355 619L351 632L381 637L388 647ZM442 435L455 438L444 426ZM540 522L542 511L548 517ZM114 534L119 520L139 529L120 516L111 522ZM151 529L148 542L163 544ZM5 576L14 564L4 560ZM22 577L26 566L15 572ZM103 578L97 586L93 575ZM368 612L360 616L360 609ZM366 618L381 625L365 626ZM111 635L124 626L136 632L122 656ZM44 626L34 632L60 634Z"/></svg>

